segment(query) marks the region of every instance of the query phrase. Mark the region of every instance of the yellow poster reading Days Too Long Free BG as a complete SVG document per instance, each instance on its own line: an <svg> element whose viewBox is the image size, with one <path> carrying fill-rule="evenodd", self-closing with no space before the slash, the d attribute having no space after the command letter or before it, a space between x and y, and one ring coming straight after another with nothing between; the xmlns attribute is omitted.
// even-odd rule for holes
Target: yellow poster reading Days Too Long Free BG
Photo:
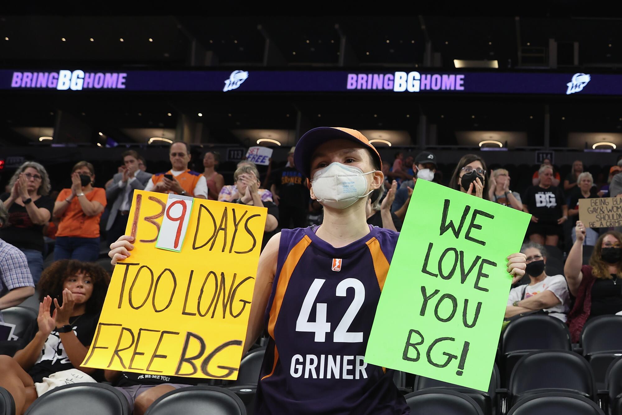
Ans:
<svg viewBox="0 0 622 415"><path fill-rule="evenodd" d="M134 249L114 267L82 365L234 380L267 209L195 198L184 211L190 220L175 252L156 248L159 233L177 236L176 223L173 230L160 229L162 218L183 221L167 209L168 198L134 192L126 228L135 236Z"/></svg>

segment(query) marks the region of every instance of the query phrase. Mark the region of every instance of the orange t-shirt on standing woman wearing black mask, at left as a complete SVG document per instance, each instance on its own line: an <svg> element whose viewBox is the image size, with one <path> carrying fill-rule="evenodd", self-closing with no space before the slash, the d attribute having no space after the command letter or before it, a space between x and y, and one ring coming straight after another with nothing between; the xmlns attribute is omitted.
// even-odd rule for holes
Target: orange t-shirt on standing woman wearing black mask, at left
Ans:
<svg viewBox="0 0 622 415"><path fill-rule="evenodd" d="M56 198L57 202L65 202L72 195L72 189L63 189ZM106 206L106 190L94 187L84 194L90 202L100 202ZM73 236L74 238L98 238L100 236L101 212L95 216L86 216L82 211L80 200L74 197L58 223L56 236Z"/></svg>

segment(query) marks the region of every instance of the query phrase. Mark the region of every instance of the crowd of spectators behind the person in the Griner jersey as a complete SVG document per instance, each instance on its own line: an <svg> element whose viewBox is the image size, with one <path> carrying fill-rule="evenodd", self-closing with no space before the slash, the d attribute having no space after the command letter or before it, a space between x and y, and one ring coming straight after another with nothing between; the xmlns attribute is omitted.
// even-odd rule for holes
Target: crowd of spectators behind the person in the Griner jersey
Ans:
<svg viewBox="0 0 622 415"><path fill-rule="evenodd" d="M307 179L295 168L294 151L292 147L285 166L274 170L270 166L263 181L252 162L240 161L233 181L227 183L218 171L221 156L217 151L203 154L204 170L197 172L189 168L188 144L173 142L166 172L147 172L145 159L128 150L121 156L123 165L104 188L94 185L93 164L80 161L70 171L71 186L60 192L51 189L44 166L32 161L22 164L7 192L0 195L0 321L1 310L21 304L35 294L35 286L40 301L39 315L22 339L24 347L12 358L0 356L5 370L0 386L11 392L18 408L27 408L37 398L34 383L44 376L73 369L93 375L94 370L82 367L81 361L109 282L106 269L96 264L107 250L100 239L107 246L124 234L134 190L266 207L263 248L281 229L322 223L322 206L311 198ZM384 183L367 200L370 225L401 231L417 180L445 184L531 213L521 249L528 279L509 292L506 320L547 314L567 322L576 342L588 319L622 312L617 289L622 277L622 234L586 228L578 220L581 199L622 194L622 175L618 174L622 161L611 167L599 188L592 174L583 171L581 161L573 163L562 184L559 172L545 159L522 195L513 189L508 170L489 172L484 159L474 154L460 159L447 183L443 183L437 157L428 151L397 152L392 162L383 162L382 169ZM104 235L100 235L100 221ZM572 244L567 246L567 258L562 258L563 271L549 272L547 261L552 260L547 249L564 249L565 229L570 228ZM52 240L54 262L44 269ZM583 250L588 248L593 251L585 259ZM104 379L121 389L136 414L144 413L167 391L188 386L187 378L145 380L129 372L106 371L97 380Z"/></svg>

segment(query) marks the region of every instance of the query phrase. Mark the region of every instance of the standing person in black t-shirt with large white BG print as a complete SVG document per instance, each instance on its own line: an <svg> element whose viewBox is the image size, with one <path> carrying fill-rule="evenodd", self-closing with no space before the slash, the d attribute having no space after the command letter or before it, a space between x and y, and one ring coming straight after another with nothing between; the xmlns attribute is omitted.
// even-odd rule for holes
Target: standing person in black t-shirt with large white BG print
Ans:
<svg viewBox="0 0 622 415"><path fill-rule="evenodd" d="M539 174L540 184L529 187L522 198L523 210L531 213L527 236L540 245L557 246L562 223L568 219L568 206L562 189L552 184L553 168L542 166Z"/></svg>

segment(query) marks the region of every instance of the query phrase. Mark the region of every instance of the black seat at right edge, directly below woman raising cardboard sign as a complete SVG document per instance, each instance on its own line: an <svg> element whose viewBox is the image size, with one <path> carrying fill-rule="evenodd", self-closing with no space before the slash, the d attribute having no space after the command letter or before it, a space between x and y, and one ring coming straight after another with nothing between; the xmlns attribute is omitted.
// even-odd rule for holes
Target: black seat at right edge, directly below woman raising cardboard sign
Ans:
<svg viewBox="0 0 622 415"><path fill-rule="evenodd" d="M590 362L596 388L605 387L607 368L622 356L622 315L599 315L583 326L580 344Z"/></svg>

